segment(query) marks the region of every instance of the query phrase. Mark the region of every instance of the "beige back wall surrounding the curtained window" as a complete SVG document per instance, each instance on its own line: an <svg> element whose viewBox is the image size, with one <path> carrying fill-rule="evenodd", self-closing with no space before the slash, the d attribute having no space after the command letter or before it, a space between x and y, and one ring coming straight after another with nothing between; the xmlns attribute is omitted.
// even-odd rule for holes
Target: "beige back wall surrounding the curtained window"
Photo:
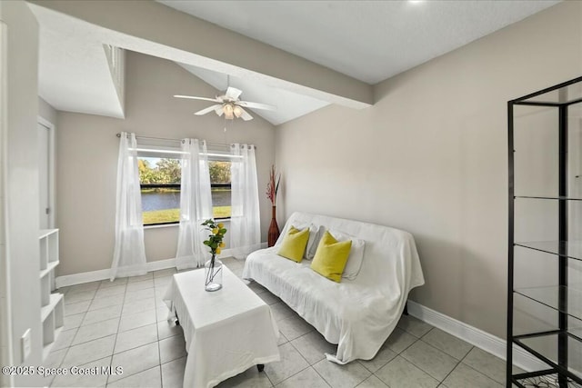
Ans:
<svg viewBox="0 0 582 388"><path fill-rule="evenodd" d="M128 52L125 57L125 120L90 114L58 113L57 226L61 229L59 275L111 267L115 227L115 174L119 139L126 131L170 139L193 137L215 143L256 144L259 192L275 160L273 125L254 120L228 123L216 114L195 116L205 102L172 95L214 96L216 89L164 59ZM262 240L270 220L260 196ZM146 229L148 262L174 258L177 226Z"/></svg>

